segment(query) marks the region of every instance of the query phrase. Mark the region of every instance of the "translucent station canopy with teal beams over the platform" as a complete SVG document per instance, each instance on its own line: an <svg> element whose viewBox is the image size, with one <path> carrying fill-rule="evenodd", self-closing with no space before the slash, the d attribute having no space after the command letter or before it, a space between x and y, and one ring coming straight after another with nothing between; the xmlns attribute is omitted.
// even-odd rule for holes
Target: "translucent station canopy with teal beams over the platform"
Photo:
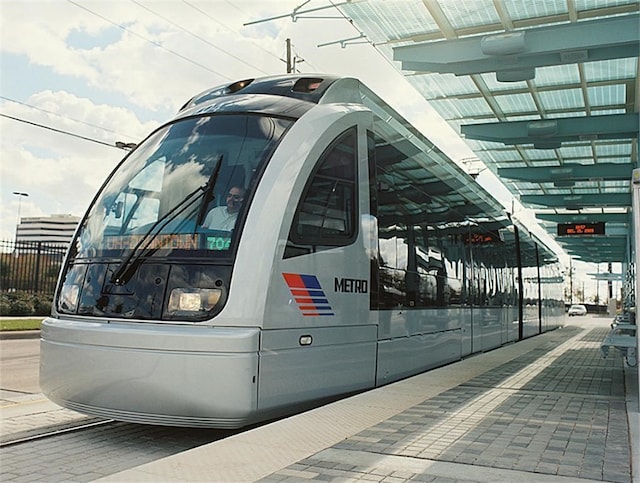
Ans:
<svg viewBox="0 0 640 483"><path fill-rule="evenodd" d="M630 262L640 2L336 6L572 258Z"/></svg>

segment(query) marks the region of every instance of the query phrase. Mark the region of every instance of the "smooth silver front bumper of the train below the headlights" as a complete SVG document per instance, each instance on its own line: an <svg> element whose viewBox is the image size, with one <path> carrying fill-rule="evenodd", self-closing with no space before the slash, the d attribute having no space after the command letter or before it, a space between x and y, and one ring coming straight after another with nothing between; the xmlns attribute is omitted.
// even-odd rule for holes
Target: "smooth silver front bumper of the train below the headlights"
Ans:
<svg viewBox="0 0 640 483"><path fill-rule="evenodd" d="M82 413L143 424L236 428L257 409L256 328L42 323L40 386Z"/></svg>

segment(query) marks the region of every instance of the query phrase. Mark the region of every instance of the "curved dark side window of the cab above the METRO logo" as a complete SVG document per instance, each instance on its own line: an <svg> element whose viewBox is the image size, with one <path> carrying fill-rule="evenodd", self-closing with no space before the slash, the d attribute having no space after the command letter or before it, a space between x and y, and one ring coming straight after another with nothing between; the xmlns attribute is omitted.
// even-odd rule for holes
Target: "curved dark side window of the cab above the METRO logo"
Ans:
<svg viewBox="0 0 640 483"><path fill-rule="evenodd" d="M353 243L357 234L356 129L323 153L304 189L284 258Z"/></svg>

